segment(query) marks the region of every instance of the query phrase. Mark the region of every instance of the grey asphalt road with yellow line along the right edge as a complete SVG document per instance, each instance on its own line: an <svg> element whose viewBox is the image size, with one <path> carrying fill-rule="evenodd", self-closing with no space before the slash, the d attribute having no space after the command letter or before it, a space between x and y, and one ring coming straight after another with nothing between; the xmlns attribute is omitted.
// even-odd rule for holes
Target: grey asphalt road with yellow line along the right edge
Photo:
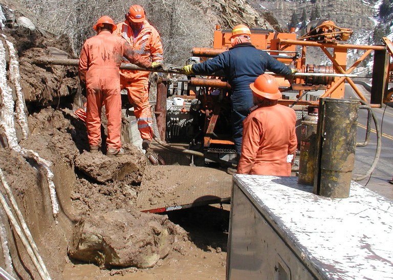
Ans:
<svg viewBox="0 0 393 280"><path fill-rule="evenodd" d="M369 99L367 92L361 85L357 85L364 96ZM356 94L350 85L345 85L345 98L355 98ZM380 127L382 127L382 149L381 155L376 168L371 177L366 178L358 183L366 186L380 195L393 200L393 185L388 183L393 177L393 108L383 105L382 108L373 109L377 116ZM382 120L383 118L383 120ZM357 142L363 142L365 139L367 124L367 111L360 110L358 118ZM376 131L374 122L372 123L372 133L370 142L366 147L357 147L355 152L354 176L363 175L371 166L376 151ZM368 183L367 183L368 182Z"/></svg>

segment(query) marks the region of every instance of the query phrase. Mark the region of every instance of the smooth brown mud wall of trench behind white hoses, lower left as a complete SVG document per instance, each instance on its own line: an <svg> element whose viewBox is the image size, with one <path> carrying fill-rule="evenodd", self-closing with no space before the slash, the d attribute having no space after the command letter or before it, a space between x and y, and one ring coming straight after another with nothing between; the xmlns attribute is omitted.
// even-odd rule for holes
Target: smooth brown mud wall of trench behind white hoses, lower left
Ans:
<svg viewBox="0 0 393 280"><path fill-rule="evenodd" d="M42 150L40 151L43 152ZM48 153L49 154L49 153ZM51 153L52 154L52 153ZM43 174L30 165L25 158L9 149L0 149L0 156L7 161L0 161L0 168L5 173L11 186L19 209L26 219L33 239L39 248L43 262L54 279L61 278L61 272L68 261L67 246L73 229L75 217L70 216L70 192L75 181L73 166L53 154L55 175L54 182L60 210L56 220L52 216L52 207L48 183ZM3 215L2 215L3 216ZM4 216L3 216L4 217ZM7 227L8 246L17 277L23 279L39 278L23 244L11 230L7 219L3 219ZM6 267L5 257L0 257L0 265Z"/></svg>

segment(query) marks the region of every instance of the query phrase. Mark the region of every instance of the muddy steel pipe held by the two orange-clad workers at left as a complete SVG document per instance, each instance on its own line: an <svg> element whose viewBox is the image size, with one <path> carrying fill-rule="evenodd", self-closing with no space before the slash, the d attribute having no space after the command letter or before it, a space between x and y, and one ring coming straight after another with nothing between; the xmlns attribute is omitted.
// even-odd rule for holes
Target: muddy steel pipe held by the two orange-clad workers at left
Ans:
<svg viewBox="0 0 393 280"><path fill-rule="evenodd" d="M39 57L33 60L34 64L52 64L52 65L64 65L64 66L78 66L79 59L70 58L49 58L49 57ZM132 63L121 63L120 69L122 70L134 70L134 71L146 71L146 72L158 72L158 73L171 73L171 74L181 74L179 70L169 70L169 69L152 69L152 68L141 68Z"/></svg>

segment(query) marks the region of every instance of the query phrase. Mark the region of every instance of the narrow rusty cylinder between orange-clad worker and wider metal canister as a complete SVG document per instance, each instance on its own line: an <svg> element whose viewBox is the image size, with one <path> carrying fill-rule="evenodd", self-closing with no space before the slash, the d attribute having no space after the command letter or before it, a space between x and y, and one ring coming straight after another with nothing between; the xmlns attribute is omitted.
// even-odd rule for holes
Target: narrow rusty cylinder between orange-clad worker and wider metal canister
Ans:
<svg viewBox="0 0 393 280"><path fill-rule="evenodd" d="M309 106L307 116L301 121L298 183L302 185L314 184L317 123L318 107Z"/></svg>

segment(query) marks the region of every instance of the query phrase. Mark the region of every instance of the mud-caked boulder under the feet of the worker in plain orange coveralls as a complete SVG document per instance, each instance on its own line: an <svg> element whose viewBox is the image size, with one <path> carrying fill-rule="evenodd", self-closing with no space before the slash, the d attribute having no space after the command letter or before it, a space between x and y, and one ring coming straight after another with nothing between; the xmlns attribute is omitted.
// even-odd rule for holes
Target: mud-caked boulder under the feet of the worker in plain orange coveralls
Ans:
<svg viewBox="0 0 393 280"><path fill-rule="evenodd" d="M133 145L128 145L124 150L125 154L120 157L84 152L75 159L75 166L99 183L115 180L140 183L146 166L146 158Z"/></svg>

